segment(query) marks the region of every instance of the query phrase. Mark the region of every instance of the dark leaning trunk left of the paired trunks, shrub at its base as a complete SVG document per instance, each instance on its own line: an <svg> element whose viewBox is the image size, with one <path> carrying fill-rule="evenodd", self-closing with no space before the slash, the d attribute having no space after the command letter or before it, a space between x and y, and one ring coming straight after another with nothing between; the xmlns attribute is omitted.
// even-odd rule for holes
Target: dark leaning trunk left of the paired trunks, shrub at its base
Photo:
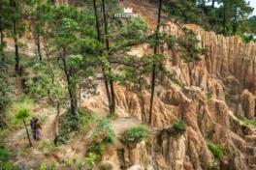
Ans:
<svg viewBox="0 0 256 170"><path fill-rule="evenodd" d="M76 93L73 92L72 87L71 87L71 79L70 79L70 73L67 68L67 63L66 59L63 57L62 58L63 66L64 66L64 71L67 77L67 82L68 82L68 91L69 91L69 96L70 96L70 111L72 115L76 115L76 110L77 110L77 97Z"/></svg>

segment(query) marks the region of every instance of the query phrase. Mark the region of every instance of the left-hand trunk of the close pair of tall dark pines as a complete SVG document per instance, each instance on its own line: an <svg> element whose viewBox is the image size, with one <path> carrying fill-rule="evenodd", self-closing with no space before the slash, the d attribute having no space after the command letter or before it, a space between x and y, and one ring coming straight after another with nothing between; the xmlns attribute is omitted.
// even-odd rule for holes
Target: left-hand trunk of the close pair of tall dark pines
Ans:
<svg viewBox="0 0 256 170"><path fill-rule="evenodd" d="M94 7L94 13L95 13L95 18L96 18L96 29L97 29L97 34L98 34L98 41L101 42L101 32L100 32L100 25L99 25L99 19L98 19L98 14L97 14L97 7L96 7L96 0L93 0L93 7ZM111 112L111 94L110 94L110 90L109 90L109 83L108 83L108 79L107 79L107 75L105 73L105 67L104 64L102 63L102 72L103 72L103 77L104 77L104 84L105 84L105 89L106 89L106 94L108 97L108 101L109 101L109 109Z"/></svg>

